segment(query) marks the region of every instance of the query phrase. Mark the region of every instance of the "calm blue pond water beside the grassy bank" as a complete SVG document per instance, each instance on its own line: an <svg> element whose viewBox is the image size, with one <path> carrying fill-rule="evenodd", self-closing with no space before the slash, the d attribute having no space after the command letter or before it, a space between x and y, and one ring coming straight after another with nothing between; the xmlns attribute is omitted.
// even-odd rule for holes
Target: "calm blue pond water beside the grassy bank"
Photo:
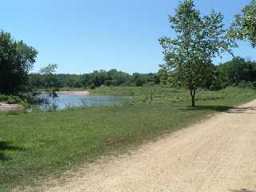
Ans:
<svg viewBox="0 0 256 192"><path fill-rule="evenodd" d="M39 105L41 110L63 110L68 107L78 106L114 106L121 102L121 98L114 96L94 96L94 95L76 95L76 94L58 94L57 98L52 98L47 94L42 94L42 98L46 98L49 103Z"/></svg>

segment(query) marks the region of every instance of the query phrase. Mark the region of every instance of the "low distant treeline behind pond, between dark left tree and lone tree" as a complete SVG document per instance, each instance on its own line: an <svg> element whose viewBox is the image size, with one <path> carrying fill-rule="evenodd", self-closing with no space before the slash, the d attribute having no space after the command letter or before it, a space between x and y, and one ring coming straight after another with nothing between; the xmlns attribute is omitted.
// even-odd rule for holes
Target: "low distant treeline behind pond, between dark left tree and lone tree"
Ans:
<svg viewBox="0 0 256 192"><path fill-rule="evenodd" d="M30 74L30 86L39 89L50 87L88 87L98 86L143 86L158 85L158 74L127 74L118 70L95 70L90 74Z"/></svg>

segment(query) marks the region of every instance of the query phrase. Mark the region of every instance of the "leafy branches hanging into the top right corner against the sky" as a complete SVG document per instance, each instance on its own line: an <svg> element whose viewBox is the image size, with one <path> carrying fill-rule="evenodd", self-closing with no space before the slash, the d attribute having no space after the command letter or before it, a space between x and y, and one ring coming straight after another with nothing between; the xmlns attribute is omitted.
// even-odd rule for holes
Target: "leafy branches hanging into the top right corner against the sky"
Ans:
<svg viewBox="0 0 256 192"><path fill-rule="evenodd" d="M242 9L242 13L235 15L230 26L230 37L248 39L253 47L256 46L256 1Z"/></svg>

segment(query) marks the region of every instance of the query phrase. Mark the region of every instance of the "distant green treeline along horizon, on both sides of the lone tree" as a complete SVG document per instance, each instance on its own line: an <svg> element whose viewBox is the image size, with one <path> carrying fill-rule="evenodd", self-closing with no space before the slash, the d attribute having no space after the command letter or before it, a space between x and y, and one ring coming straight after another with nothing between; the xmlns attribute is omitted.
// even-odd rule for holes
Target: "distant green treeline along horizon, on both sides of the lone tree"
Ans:
<svg viewBox="0 0 256 192"><path fill-rule="evenodd" d="M256 62L236 57L218 66L213 65L206 90L221 90L226 86L256 86ZM118 70L95 70L90 74L30 74L30 86L38 89L98 86L145 86L165 85L162 71L156 74L127 74Z"/></svg>

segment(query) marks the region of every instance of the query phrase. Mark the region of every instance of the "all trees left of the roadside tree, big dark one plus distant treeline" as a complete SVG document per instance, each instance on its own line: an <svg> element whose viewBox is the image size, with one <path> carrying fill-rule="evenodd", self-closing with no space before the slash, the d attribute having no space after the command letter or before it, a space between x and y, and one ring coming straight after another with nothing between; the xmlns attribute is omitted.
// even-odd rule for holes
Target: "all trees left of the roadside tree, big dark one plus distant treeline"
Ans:
<svg viewBox="0 0 256 192"><path fill-rule="evenodd" d="M55 74L57 65L50 64L37 74L32 70L38 51L10 33L0 31L0 94L18 94L38 88L97 86L143 86L160 83L158 74L127 74L118 70L95 70L90 74Z"/></svg>

